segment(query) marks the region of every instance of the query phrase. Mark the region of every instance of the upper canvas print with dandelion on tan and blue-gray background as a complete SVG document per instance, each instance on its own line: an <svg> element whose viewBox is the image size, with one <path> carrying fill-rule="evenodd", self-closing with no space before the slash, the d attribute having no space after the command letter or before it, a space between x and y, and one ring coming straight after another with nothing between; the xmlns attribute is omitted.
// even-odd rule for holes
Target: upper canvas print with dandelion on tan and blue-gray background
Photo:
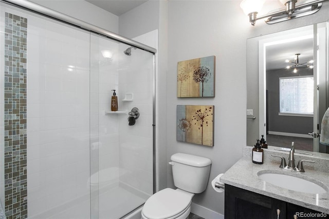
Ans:
<svg viewBox="0 0 329 219"><path fill-rule="evenodd" d="M177 97L215 96L215 56L177 63Z"/></svg>

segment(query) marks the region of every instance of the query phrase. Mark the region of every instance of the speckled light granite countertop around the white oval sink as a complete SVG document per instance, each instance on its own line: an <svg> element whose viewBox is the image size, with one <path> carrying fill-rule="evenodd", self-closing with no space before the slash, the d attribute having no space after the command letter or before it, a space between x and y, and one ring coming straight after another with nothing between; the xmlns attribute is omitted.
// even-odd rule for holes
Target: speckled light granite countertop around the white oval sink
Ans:
<svg viewBox="0 0 329 219"><path fill-rule="evenodd" d="M284 155L284 157L286 157L286 155ZM228 171L225 172L225 174L221 177L221 181L231 186L329 214L329 173L317 170L308 170L305 166L305 173L284 170L279 168L280 164L276 161L278 160L264 159L263 165L257 165L251 161L251 156L243 156ZM296 160L296 162L297 161L298 160ZM314 163L314 165L316 164ZM271 173L282 173L304 178L321 185L326 188L328 192L323 194L311 194L284 189L260 179L257 173L262 170L266 170L266 172Z"/></svg>

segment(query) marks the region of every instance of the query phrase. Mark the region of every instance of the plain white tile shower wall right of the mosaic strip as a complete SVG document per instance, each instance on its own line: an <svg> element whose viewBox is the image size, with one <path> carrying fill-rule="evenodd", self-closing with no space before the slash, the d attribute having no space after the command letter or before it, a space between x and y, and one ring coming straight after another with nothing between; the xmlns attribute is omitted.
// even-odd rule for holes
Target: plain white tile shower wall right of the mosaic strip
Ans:
<svg viewBox="0 0 329 219"><path fill-rule="evenodd" d="M28 16L29 218L71 207L90 215L76 202L89 200L89 37Z"/></svg>

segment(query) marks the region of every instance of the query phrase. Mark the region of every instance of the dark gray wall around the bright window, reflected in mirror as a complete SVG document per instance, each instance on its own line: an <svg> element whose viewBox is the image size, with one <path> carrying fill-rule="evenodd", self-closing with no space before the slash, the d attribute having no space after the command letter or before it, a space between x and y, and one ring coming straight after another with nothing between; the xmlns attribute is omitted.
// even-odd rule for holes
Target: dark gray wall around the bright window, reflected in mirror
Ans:
<svg viewBox="0 0 329 219"><path fill-rule="evenodd" d="M298 75L313 75L313 69L300 68ZM266 89L268 90L268 131L305 134L313 131L313 117L279 116L280 93L279 78L291 77L287 69L266 71Z"/></svg>

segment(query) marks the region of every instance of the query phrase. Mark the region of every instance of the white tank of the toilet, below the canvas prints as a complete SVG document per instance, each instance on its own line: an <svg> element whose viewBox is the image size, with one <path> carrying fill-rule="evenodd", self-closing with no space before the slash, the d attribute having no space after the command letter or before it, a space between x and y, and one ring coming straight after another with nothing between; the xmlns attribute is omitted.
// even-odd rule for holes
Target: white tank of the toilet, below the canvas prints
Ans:
<svg viewBox="0 0 329 219"><path fill-rule="evenodd" d="M174 184L191 193L206 190L211 160L191 154L176 153L171 156Z"/></svg>

